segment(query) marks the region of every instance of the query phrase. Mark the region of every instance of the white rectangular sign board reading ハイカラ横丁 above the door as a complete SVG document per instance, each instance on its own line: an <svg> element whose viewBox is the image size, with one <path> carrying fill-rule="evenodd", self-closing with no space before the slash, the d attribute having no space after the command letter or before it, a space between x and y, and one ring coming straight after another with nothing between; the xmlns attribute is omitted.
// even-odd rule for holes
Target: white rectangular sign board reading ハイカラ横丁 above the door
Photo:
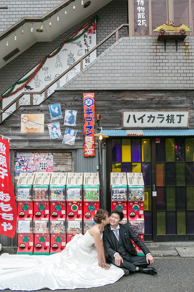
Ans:
<svg viewBox="0 0 194 292"><path fill-rule="evenodd" d="M190 109L122 110L122 128L188 128Z"/></svg>

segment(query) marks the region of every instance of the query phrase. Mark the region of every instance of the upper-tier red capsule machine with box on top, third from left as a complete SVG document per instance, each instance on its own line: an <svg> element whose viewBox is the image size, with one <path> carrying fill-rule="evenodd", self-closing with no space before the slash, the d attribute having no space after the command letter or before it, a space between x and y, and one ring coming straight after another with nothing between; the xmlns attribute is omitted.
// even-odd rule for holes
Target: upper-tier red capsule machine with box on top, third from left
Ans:
<svg viewBox="0 0 194 292"><path fill-rule="evenodd" d="M65 185L67 173L51 173L49 197L50 220L66 219Z"/></svg>

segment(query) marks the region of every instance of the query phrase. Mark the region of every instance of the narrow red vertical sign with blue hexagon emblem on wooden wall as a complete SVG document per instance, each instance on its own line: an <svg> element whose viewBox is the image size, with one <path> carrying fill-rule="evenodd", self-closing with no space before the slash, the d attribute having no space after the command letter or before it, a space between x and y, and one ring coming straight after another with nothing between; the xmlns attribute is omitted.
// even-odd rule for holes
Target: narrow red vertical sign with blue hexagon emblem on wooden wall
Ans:
<svg viewBox="0 0 194 292"><path fill-rule="evenodd" d="M95 156L95 100L94 93L83 93L83 156Z"/></svg>

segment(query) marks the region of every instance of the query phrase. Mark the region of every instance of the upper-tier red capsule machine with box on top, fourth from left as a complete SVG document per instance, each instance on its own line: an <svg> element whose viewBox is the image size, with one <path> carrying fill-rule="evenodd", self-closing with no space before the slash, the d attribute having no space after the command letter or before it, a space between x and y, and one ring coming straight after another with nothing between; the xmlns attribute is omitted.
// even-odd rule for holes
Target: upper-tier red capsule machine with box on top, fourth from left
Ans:
<svg viewBox="0 0 194 292"><path fill-rule="evenodd" d="M67 173L67 220L83 219L83 173Z"/></svg>

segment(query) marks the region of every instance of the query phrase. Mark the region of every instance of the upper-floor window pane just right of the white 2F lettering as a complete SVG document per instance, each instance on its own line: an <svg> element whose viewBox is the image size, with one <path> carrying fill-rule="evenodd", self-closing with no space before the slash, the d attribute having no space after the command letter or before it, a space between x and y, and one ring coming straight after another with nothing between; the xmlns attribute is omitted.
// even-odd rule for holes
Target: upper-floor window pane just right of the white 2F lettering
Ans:
<svg viewBox="0 0 194 292"><path fill-rule="evenodd" d="M168 20L166 13L166 0L152 0L152 30ZM152 32L158 35L158 32Z"/></svg>

